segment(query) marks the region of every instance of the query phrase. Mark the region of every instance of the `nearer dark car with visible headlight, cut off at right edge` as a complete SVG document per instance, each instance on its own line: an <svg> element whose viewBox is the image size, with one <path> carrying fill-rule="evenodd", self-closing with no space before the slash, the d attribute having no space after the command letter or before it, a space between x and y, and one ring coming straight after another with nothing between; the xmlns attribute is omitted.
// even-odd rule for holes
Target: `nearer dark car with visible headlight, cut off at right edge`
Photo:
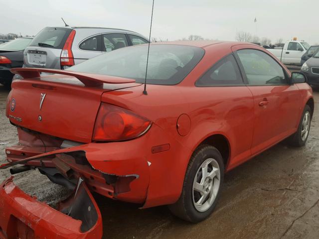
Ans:
<svg viewBox="0 0 319 239"><path fill-rule="evenodd" d="M309 85L319 86L319 51L304 63L301 71L307 75Z"/></svg>

